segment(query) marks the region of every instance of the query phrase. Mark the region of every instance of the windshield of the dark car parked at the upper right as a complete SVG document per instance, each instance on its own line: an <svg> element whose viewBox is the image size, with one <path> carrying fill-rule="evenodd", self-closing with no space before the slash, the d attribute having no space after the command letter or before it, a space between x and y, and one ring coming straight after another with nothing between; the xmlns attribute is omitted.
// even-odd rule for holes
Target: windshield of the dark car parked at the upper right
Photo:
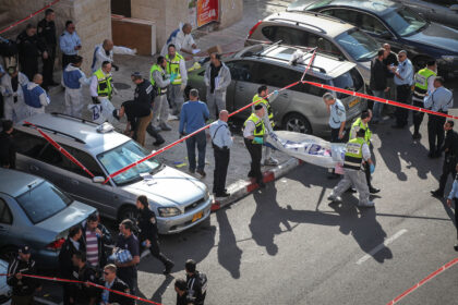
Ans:
<svg viewBox="0 0 458 305"><path fill-rule="evenodd" d="M427 23L414 12L402 8L383 16L385 22L399 36L409 36L423 28Z"/></svg>

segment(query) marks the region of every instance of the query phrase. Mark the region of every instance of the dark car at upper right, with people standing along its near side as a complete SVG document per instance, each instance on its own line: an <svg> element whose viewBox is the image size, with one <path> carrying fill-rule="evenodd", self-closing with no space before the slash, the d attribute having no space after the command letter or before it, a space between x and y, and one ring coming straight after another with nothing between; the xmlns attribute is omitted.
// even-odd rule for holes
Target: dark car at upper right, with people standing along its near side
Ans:
<svg viewBox="0 0 458 305"><path fill-rule="evenodd" d="M458 75L458 30L431 23L387 0L297 0L288 11L316 11L351 23L394 51L407 50L417 69L435 59L439 74Z"/></svg>

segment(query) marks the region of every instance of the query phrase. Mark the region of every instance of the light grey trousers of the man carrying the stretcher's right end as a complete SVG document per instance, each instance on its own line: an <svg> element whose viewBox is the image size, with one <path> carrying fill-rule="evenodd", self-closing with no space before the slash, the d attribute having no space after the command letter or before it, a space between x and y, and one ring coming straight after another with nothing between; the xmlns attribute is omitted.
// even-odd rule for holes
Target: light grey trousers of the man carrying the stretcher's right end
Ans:
<svg viewBox="0 0 458 305"><path fill-rule="evenodd" d="M343 194L351 185L357 188L358 194L360 195L360 205L365 205L369 203L369 186L365 180L365 174L362 170L350 170L343 169L345 174L343 179L339 181L336 187L334 187L330 196L337 197Z"/></svg>

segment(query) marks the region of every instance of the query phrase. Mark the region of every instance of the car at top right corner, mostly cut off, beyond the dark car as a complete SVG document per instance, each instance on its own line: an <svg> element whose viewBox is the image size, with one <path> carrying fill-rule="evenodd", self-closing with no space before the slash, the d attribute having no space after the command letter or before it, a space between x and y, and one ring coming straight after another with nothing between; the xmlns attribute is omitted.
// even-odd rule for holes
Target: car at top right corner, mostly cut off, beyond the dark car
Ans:
<svg viewBox="0 0 458 305"><path fill-rule="evenodd" d="M393 0L431 22L458 28L458 0Z"/></svg>

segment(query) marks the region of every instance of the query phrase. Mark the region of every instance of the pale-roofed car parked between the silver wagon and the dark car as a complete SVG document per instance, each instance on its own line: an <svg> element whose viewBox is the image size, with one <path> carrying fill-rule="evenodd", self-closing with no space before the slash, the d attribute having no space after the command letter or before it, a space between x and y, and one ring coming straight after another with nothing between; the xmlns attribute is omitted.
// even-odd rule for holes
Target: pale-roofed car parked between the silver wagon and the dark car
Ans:
<svg viewBox="0 0 458 305"><path fill-rule="evenodd" d="M357 63L366 84L371 78L371 60L379 49L375 39L354 25L320 13L272 14L253 26L246 45L254 45L256 40L318 47L320 52Z"/></svg>

